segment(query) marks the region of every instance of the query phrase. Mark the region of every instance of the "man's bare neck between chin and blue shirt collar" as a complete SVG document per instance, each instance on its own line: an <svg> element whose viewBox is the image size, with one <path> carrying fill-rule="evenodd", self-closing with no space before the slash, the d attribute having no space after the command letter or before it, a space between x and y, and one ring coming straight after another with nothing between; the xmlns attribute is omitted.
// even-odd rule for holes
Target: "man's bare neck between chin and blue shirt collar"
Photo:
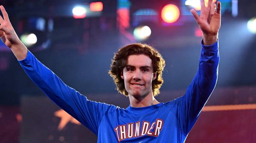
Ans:
<svg viewBox="0 0 256 143"><path fill-rule="evenodd" d="M149 93L145 96L132 96L128 95L131 107L147 107L158 104L159 102L154 98L153 93Z"/></svg>

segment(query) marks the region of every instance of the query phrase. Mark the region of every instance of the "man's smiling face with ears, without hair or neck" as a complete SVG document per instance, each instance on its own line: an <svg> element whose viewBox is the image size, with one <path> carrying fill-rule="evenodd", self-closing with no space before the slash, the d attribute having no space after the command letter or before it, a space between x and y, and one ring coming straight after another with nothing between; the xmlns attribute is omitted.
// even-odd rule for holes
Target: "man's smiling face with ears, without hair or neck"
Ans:
<svg viewBox="0 0 256 143"><path fill-rule="evenodd" d="M156 78L152 60L144 54L128 56L121 78L129 95L142 97L152 94L152 81Z"/></svg>

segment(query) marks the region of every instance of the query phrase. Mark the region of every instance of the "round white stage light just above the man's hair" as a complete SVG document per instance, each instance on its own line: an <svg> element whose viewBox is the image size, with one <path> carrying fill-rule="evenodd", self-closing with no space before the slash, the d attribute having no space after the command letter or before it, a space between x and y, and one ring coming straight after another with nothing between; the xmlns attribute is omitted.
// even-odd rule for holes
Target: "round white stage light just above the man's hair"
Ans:
<svg viewBox="0 0 256 143"><path fill-rule="evenodd" d="M148 26L136 27L133 31L136 40L146 40L151 35L151 29Z"/></svg>

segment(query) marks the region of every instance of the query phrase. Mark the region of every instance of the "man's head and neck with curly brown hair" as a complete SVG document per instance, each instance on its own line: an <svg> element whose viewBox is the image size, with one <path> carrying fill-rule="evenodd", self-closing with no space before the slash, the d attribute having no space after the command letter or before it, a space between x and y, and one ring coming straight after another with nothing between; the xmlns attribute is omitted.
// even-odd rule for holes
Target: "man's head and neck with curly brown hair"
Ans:
<svg viewBox="0 0 256 143"><path fill-rule="evenodd" d="M159 94L164 66L164 59L157 50L136 43L115 54L109 74L118 91L129 97L132 107L146 107L159 103L153 94Z"/></svg>

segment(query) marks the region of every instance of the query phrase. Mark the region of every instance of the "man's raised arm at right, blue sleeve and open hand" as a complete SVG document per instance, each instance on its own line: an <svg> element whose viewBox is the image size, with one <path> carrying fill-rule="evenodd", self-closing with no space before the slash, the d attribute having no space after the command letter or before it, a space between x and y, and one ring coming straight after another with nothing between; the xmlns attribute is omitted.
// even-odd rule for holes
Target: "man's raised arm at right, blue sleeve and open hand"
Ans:
<svg viewBox="0 0 256 143"><path fill-rule="evenodd" d="M187 136L194 123L198 119L200 112L206 104L209 96L215 88L218 77L219 50L218 31L220 28L220 2L217 3L217 11L213 0L209 0L208 6L201 0L201 15L191 10L198 26L203 32L202 50L199 59L199 68L187 88L184 96L178 98L178 122Z"/></svg>

